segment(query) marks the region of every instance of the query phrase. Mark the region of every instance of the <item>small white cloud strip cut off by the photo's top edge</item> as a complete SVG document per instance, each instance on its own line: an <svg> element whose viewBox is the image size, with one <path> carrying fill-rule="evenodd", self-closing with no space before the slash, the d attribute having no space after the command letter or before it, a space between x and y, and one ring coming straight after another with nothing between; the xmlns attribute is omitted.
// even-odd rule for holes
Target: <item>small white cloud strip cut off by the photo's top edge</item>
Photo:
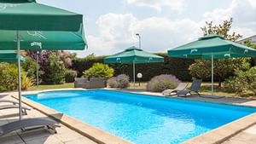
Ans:
<svg viewBox="0 0 256 144"><path fill-rule="evenodd" d="M149 7L160 11L162 7L170 7L173 10L181 12L184 6L184 0L126 0L129 4L139 7Z"/></svg>

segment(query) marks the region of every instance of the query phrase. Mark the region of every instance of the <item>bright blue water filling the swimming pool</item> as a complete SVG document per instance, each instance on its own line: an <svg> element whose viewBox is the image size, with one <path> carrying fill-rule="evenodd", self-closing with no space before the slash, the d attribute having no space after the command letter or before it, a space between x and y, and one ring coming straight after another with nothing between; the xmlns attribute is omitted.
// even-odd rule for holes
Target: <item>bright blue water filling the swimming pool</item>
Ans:
<svg viewBox="0 0 256 144"><path fill-rule="evenodd" d="M180 143L256 112L251 107L102 89L52 91L26 97L137 144Z"/></svg>

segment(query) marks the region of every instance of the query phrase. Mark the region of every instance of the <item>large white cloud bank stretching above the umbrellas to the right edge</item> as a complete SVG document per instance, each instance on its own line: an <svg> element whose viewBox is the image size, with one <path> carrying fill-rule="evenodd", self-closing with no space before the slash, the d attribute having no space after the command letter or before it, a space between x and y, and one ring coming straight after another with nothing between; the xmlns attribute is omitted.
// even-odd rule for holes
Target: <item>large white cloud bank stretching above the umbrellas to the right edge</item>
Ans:
<svg viewBox="0 0 256 144"><path fill-rule="evenodd" d="M206 12L199 21L172 20L166 17L139 20L133 14L103 14L96 22L99 36L87 36L89 49L79 56L91 53L113 55L132 45L138 45L136 33L142 36L143 49L149 52L166 52L167 49L201 37L201 26L204 26L206 20L219 24L230 17L234 18L231 32L235 31L248 37L256 33L255 14L256 4L252 0L233 0L227 9Z"/></svg>

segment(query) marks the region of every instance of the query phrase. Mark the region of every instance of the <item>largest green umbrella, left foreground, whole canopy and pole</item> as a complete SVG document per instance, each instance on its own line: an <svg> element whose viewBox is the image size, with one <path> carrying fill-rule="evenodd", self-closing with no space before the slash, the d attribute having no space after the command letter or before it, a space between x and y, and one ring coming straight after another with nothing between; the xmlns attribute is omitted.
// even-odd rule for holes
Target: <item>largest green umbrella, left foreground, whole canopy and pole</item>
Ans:
<svg viewBox="0 0 256 144"><path fill-rule="evenodd" d="M21 119L20 45L21 49L83 49L85 42L80 43L81 40L84 41L83 15L39 4L35 0L0 0L0 21L0 31L3 30L3 33L10 37L9 40L4 39L5 36L1 37L3 47L1 46L0 50L17 48ZM6 33L6 30L10 32ZM12 31L15 31L16 35ZM35 36L34 41L26 32Z"/></svg>

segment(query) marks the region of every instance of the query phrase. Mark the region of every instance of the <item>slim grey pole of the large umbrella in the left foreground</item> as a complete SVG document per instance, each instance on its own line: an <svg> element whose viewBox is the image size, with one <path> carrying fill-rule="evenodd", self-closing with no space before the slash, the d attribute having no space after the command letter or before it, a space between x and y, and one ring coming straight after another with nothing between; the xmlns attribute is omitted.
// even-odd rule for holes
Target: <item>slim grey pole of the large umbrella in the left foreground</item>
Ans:
<svg viewBox="0 0 256 144"><path fill-rule="evenodd" d="M22 118L21 110L21 76L20 76L20 32L17 31L17 55L18 55L18 92L19 92L19 118Z"/></svg>

